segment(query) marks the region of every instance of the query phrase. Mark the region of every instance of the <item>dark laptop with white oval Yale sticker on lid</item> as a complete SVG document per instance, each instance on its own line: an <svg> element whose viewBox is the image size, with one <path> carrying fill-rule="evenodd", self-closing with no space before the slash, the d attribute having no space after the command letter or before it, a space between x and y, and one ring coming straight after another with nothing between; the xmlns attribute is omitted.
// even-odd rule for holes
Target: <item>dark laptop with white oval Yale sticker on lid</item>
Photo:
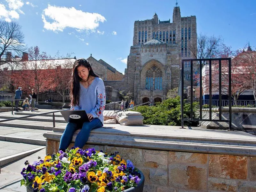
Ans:
<svg viewBox="0 0 256 192"><path fill-rule="evenodd" d="M64 117L66 122L71 123L90 122L93 119L88 118L85 110L64 110L60 111L60 113Z"/></svg>

